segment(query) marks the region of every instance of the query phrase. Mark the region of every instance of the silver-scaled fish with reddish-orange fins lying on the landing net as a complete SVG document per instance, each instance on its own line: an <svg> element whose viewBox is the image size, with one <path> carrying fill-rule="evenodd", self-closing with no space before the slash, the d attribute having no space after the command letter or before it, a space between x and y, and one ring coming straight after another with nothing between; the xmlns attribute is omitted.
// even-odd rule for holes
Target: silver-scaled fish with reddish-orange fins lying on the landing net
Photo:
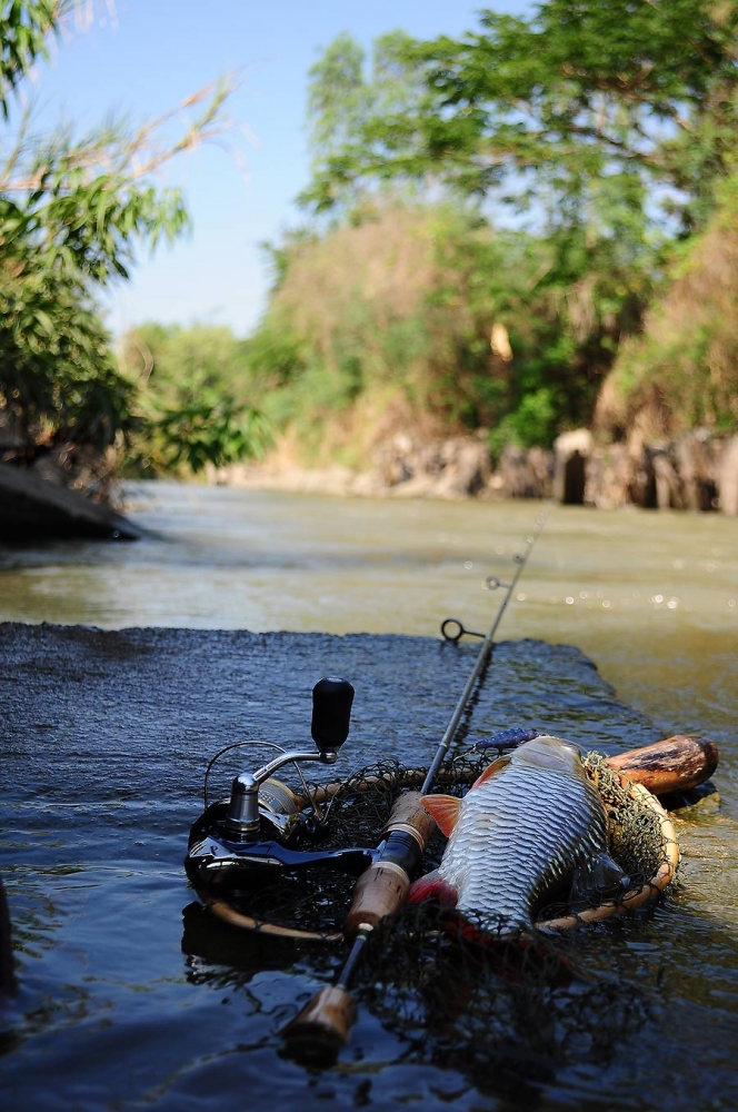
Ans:
<svg viewBox="0 0 738 1112"><path fill-rule="evenodd" d="M578 877L624 877L579 748L550 734L495 761L462 800L426 795L422 804L448 843L438 868L411 885L410 903L436 897L483 930L529 932L537 909Z"/></svg>

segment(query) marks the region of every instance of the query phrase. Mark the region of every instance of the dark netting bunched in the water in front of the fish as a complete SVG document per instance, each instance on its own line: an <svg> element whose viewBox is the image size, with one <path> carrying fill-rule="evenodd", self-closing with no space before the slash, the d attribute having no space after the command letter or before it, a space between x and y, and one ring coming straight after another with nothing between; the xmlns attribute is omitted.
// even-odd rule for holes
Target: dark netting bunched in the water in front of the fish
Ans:
<svg viewBox="0 0 738 1112"><path fill-rule="evenodd" d="M536 1085L566 1064L605 1065L651 1015L642 986L585 972L571 935L481 942L416 905L369 947L353 993L406 1045L403 1060L458 1070L481 1091L507 1081L518 1100L521 1078Z"/></svg>

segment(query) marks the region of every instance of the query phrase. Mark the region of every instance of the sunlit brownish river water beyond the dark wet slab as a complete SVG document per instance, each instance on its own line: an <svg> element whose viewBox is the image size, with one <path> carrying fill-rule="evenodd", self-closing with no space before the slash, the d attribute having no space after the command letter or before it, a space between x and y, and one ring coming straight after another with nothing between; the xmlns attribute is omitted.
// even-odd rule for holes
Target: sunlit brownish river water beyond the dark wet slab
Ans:
<svg viewBox="0 0 738 1112"><path fill-rule="evenodd" d="M536 503L335 499L141 484L132 544L0 548L0 618L432 636L486 629ZM499 637L574 644L681 729L735 728L738 519L550 513Z"/></svg>

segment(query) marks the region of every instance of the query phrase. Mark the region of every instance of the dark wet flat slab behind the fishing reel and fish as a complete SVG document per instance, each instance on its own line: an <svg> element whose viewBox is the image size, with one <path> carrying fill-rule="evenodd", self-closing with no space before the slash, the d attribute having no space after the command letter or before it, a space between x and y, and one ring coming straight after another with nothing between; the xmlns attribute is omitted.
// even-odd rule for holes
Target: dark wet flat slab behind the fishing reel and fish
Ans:
<svg viewBox="0 0 738 1112"><path fill-rule="evenodd" d="M356 688L339 775L379 757L430 763L478 651L398 635L6 623L0 744L22 797L187 800L186 821L221 746L311 746L311 692L325 675ZM495 647L466 742L510 726L608 752L657 739L578 649L536 641Z"/></svg>

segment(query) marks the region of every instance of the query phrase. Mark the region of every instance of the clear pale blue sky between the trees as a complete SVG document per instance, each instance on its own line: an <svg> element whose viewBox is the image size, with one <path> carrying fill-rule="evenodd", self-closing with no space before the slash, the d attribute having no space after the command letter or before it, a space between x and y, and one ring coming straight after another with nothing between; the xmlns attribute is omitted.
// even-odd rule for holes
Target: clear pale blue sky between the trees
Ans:
<svg viewBox="0 0 738 1112"><path fill-rule="evenodd" d="M80 0L80 6L92 0ZM478 26L480 3L452 0L97 0L87 29L64 36L34 75L38 126L90 128L111 111L159 116L225 72L240 85L227 115L230 149L209 143L160 178L182 188L193 231L153 256L139 252L129 282L107 299L120 335L144 320L228 325L248 335L266 307L259 244L305 222L295 198L309 180L308 71L341 31L365 49L401 28L418 38ZM497 0L519 13L520 0Z"/></svg>

